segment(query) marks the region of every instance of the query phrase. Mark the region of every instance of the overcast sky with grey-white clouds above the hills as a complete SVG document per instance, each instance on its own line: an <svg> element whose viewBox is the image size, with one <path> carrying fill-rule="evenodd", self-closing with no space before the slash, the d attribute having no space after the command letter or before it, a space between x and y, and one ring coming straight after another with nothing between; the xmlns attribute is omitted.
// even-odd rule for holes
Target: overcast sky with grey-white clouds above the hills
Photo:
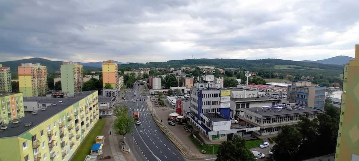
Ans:
<svg viewBox="0 0 359 161"><path fill-rule="evenodd" d="M358 0L5 0L0 62L354 57Z"/></svg>

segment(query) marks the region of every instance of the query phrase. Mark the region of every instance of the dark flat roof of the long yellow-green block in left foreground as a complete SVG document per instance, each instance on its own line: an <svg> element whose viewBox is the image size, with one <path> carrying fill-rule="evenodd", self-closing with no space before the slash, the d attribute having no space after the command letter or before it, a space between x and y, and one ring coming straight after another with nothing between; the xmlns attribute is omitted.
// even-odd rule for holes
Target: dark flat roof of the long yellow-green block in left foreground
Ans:
<svg viewBox="0 0 359 161"><path fill-rule="evenodd" d="M70 99L67 98L48 98L48 99L38 99L37 97L29 97L24 98L24 102L26 101L37 101L40 100L41 102L57 102L57 105L55 106L48 106L45 111L37 111L37 114L32 114L31 112L25 112L25 116L20 118L20 123L13 124L12 122L8 124L8 129L1 130L0 131L0 138L2 137L13 137L13 136L19 136L22 133L34 128L35 126L41 124L48 118L54 116L55 114L61 112L62 110L66 109L67 107L71 106L72 104L80 101L81 99L87 97L89 94L92 94L96 91L84 91L83 93L80 93L79 95L75 94L75 97L71 97ZM62 104L59 103L59 101L63 101ZM55 103L55 102L54 102ZM32 122L32 125L30 127L24 126L25 123Z"/></svg>

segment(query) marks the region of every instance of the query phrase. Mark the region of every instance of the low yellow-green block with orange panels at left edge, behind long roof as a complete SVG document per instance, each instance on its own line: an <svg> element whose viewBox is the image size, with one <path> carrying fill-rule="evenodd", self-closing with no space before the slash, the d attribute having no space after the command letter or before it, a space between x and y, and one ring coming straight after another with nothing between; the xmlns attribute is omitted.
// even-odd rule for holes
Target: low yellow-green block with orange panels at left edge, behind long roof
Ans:
<svg viewBox="0 0 359 161"><path fill-rule="evenodd" d="M0 95L0 125L24 117L24 102L22 93L7 93Z"/></svg>

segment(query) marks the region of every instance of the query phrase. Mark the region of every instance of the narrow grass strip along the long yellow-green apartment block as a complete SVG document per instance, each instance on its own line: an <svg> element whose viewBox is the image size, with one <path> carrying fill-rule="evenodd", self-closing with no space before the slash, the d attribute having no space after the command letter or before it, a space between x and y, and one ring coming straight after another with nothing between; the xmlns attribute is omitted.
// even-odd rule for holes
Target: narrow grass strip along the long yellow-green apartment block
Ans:
<svg viewBox="0 0 359 161"><path fill-rule="evenodd" d="M101 135L105 123L106 119L98 120L87 137L82 141L81 146L78 148L78 151L75 153L71 161L85 160L86 155L91 152L91 147L95 143L96 136Z"/></svg>

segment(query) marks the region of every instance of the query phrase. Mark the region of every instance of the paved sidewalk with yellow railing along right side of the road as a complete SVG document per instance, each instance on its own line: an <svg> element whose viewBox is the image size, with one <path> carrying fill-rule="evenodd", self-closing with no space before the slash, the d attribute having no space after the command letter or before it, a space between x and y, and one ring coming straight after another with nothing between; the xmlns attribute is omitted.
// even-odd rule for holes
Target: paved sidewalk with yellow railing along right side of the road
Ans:
<svg viewBox="0 0 359 161"><path fill-rule="evenodd" d="M151 101L148 101L148 102L149 102L150 108L153 108L152 102ZM167 106L169 106L167 101L165 101L165 104L167 104ZM201 157L201 158L197 158L197 159L203 159L206 157L213 156L213 155L204 155L204 154L200 153L200 151L197 149L197 147L189 139L189 136L191 134L186 132L185 130L183 130L182 126L177 126L177 127L176 126L168 126L168 124L167 124L168 114L175 111L173 108L169 108L170 110L166 110L166 111L163 111L161 107L153 108L153 109L154 109L153 113L155 114L155 116L157 116L159 119L162 119L162 125L166 128L166 130L169 131L169 133L171 133L171 135L178 141L178 143L180 143L180 145L183 147L183 149L185 149L189 153L196 154ZM183 155L183 156L185 156L188 159L193 159L193 160L196 159L196 158L188 157L186 155Z"/></svg>

